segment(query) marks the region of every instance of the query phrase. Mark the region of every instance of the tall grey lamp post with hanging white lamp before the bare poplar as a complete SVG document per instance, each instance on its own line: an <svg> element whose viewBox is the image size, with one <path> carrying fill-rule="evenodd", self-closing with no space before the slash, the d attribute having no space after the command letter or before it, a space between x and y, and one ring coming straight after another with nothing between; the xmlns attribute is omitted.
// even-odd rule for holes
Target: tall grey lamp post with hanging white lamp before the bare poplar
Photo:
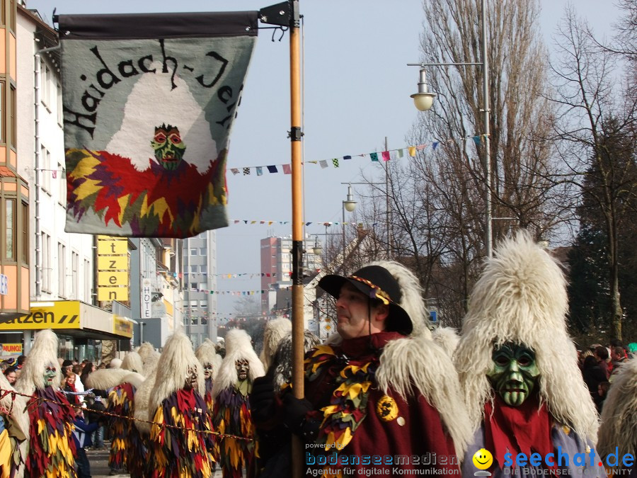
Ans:
<svg viewBox="0 0 637 478"><path fill-rule="evenodd" d="M479 66L483 67L483 114L484 114L484 168L485 168L485 247L487 257L493 256L493 217L491 212L491 152L490 152L490 106L489 106L489 60L486 51L487 45L487 21L486 21L486 0L482 0L482 38L481 38L481 54L482 62L459 62L459 63L408 63L409 67L420 67L420 81L418 81L418 93L411 95L413 103L420 111L426 111L431 108L435 93L431 93L427 87L427 77L425 67L447 67L447 66Z"/></svg>

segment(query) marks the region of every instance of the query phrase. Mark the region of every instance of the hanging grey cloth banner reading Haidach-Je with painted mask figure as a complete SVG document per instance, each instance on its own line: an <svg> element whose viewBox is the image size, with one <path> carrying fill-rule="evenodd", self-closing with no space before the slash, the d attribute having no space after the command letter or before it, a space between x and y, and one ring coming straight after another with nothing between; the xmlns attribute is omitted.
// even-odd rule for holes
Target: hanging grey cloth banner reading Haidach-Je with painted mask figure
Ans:
<svg viewBox="0 0 637 478"><path fill-rule="evenodd" d="M60 15L67 232L228 225L226 155L258 12Z"/></svg>

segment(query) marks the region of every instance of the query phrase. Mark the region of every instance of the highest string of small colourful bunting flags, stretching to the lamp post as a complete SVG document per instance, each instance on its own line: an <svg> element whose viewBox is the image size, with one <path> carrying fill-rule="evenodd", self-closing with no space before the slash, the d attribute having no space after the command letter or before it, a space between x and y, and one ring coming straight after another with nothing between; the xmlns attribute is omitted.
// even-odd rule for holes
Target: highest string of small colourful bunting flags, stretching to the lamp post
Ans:
<svg viewBox="0 0 637 478"><path fill-rule="evenodd" d="M473 140L476 145L480 145L482 143L482 138L485 135L476 135L476 136L466 136L461 138L462 141L466 142L468 140ZM432 149L436 149L441 144L457 142L457 140L446 140L446 141L434 141L431 143L425 144L417 144L415 146L406 146L398 149L388 149L386 151L381 152L373 152L373 153L361 153L361 154L345 154L343 156L331 158L331 159L319 159L316 161L304 161L304 164L318 164L321 166L321 169L326 169L330 165L334 168L340 167L340 161L348 161L352 158L365 158L369 157L372 162L379 161L390 161L391 159L400 159L405 157L407 154L409 157L415 157L417 151L421 151L426 147L432 147ZM292 174L292 165L291 164L270 164L268 166L240 166L238 168L230 168L230 172L236 176L240 173L243 173L243 176L251 176L252 171L255 171L256 176L263 176L265 171L268 171L270 174L279 173L282 171L284 174Z"/></svg>

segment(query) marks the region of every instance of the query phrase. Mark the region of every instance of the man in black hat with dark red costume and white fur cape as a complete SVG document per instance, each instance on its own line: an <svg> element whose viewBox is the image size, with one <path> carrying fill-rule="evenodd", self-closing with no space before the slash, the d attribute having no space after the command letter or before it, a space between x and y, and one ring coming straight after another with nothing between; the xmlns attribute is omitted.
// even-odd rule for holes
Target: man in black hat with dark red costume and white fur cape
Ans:
<svg viewBox="0 0 637 478"><path fill-rule="evenodd" d="M382 261L326 275L319 287L337 299L338 339L306 355L305 399L271 399L255 382L261 438L282 420L304 441L306 474L459 474L471 430L451 359L425 327L418 279Z"/></svg>

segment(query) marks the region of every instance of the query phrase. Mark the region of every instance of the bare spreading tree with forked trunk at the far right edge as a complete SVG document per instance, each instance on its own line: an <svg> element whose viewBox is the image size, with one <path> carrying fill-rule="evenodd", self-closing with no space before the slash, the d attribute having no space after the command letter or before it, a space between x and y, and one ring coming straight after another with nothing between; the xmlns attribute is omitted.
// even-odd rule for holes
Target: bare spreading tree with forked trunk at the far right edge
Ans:
<svg viewBox="0 0 637 478"><path fill-rule="evenodd" d="M616 74L613 52L600 49L590 28L567 8L553 62L554 135L583 204L597 208L605 229L612 334L621 339L619 229L636 194L634 74ZM621 85L624 89L621 89ZM631 147L630 144L633 146ZM619 145L619 147L618 147ZM623 146L621 146L623 145Z"/></svg>

